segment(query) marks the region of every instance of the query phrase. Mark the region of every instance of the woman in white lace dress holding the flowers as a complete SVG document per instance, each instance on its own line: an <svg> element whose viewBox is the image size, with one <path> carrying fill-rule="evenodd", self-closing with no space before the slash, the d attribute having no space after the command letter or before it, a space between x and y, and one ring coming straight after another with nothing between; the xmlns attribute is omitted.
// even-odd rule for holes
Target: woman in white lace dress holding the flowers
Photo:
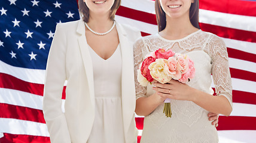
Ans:
<svg viewBox="0 0 256 143"><path fill-rule="evenodd" d="M136 82L136 114L145 116L141 142L218 142L208 113L230 115L231 77L225 43L199 27L198 0L156 0L159 33L135 43L135 76L139 64L159 48L187 54L196 73L187 83L170 80L147 88ZM217 96L213 96L212 78ZM172 117L163 113L170 98Z"/></svg>

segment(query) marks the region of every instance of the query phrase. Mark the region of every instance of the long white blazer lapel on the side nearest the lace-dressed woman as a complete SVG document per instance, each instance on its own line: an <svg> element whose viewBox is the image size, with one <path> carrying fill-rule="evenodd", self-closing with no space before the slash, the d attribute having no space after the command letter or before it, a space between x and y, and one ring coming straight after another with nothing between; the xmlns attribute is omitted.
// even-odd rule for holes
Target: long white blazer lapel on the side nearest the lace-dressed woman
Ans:
<svg viewBox="0 0 256 143"><path fill-rule="evenodd" d="M133 71L133 43L126 37L127 34L119 23L117 23L117 32L122 55L121 93L124 135L127 141L127 132L133 119L136 101Z"/></svg>

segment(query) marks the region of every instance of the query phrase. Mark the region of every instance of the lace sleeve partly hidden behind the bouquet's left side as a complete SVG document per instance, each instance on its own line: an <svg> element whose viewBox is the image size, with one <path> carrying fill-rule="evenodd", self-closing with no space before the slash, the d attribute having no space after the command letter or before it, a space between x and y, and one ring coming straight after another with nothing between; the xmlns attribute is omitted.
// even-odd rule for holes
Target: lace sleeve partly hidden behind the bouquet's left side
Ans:
<svg viewBox="0 0 256 143"><path fill-rule="evenodd" d="M147 88L141 86L137 80L137 74L139 65L142 63L143 59L143 52L142 49L144 48L145 44L142 38L139 38L138 41L135 42L133 46L133 57L134 57L134 75L135 75L135 89L136 89L136 100L140 97L145 97L147 93Z"/></svg>

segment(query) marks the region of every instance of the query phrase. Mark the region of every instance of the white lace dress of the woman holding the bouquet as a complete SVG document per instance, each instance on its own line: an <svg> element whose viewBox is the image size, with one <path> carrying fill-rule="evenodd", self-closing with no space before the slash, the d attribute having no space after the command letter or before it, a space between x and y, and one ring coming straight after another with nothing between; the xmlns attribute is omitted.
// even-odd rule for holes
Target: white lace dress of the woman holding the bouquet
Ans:
<svg viewBox="0 0 256 143"><path fill-rule="evenodd" d="M170 41L159 34L146 36L135 43L135 76L145 56L159 48L172 49L187 54L194 61L196 74L187 84L208 94L223 95L232 106L231 77L228 68L227 49L218 36L198 30L185 38ZM212 77L211 77L212 74ZM136 81L136 98L153 94L152 86L146 88ZM215 126L208 120L206 111L192 101L171 100L172 117L163 113L164 104L159 105L144 119L141 143L155 142L218 142Z"/></svg>

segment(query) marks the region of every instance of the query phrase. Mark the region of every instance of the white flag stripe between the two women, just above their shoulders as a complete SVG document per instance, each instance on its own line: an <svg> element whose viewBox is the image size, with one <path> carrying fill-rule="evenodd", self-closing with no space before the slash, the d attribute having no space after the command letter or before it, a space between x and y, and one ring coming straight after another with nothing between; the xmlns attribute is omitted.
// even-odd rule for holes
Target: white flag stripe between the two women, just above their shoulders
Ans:
<svg viewBox="0 0 256 143"><path fill-rule="evenodd" d="M115 15L115 20L117 20L118 23L129 24L130 26L136 27L141 32L149 34L157 33L157 25L154 24L144 23L142 21L121 17L119 15Z"/></svg>

